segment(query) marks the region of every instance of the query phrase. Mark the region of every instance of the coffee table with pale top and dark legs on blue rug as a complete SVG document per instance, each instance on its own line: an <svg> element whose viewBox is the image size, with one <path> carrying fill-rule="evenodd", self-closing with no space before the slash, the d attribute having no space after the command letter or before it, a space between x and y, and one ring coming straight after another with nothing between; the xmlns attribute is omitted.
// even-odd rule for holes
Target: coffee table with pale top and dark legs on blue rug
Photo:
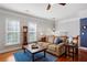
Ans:
<svg viewBox="0 0 87 65"><path fill-rule="evenodd" d="M44 52L44 57L46 56L46 54L45 54L46 48L45 48L45 47L42 47L42 46L37 45L39 48L32 48L32 45L33 45L33 43L23 46L23 48L24 48L24 53L25 53L25 51L28 51L28 52L30 52L30 53L32 54L32 61L33 61L33 62L35 61L34 55L35 55L36 53Z"/></svg>

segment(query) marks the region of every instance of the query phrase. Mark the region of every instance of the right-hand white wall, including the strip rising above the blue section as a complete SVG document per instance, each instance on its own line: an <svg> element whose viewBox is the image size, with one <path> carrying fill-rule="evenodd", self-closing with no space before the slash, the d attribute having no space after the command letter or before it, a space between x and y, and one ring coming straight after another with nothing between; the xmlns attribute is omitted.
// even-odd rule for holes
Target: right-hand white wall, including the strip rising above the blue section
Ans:
<svg viewBox="0 0 87 65"><path fill-rule="evenodd" d="M80 19L87 18L87 10L78 11L73 17L56 21L57 32L67 32L68 36L75 36L80 34ZM58 33L59 35L62 33Z"/></svg>

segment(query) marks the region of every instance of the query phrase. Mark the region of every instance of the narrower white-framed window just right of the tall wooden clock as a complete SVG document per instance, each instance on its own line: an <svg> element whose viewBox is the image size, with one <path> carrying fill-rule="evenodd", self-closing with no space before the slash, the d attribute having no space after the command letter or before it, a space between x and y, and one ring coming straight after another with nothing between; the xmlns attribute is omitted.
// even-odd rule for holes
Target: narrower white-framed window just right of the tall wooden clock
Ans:
<svg viewBox="0 0 87 65"><path fill-rule="evenodd" d="M29 42L36 41L36 24L29 23Z"/></svg>

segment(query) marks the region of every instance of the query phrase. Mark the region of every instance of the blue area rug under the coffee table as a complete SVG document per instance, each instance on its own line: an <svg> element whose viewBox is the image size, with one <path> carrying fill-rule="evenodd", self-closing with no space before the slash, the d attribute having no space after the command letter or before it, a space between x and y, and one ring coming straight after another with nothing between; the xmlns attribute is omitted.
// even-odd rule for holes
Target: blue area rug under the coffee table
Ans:
<svg viewBox="0 0 87 65"><path fill-rule="evenodd" d="M13 54L15 62L32 62L32 55L29 52L17 52ZM39 58L35 62L55 62L57 59L56 56L46 53L45 57L42 57L44 53L35 54L34 58Z"/></svg>

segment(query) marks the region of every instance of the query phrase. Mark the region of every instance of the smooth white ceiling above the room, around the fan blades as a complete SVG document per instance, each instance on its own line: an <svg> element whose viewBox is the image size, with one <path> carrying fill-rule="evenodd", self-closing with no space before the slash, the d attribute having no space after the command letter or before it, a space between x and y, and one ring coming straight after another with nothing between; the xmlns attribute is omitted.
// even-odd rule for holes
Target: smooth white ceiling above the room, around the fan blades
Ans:
<svg viewBox="0 0 87 65"><path fill-rule="evenodd" d="M46 10L47 3L0 3L0 8L31 14L44 19L65 19L81 10L87 9L87 3L67 3L66 6L53 4L51 10Z"/></svg>

